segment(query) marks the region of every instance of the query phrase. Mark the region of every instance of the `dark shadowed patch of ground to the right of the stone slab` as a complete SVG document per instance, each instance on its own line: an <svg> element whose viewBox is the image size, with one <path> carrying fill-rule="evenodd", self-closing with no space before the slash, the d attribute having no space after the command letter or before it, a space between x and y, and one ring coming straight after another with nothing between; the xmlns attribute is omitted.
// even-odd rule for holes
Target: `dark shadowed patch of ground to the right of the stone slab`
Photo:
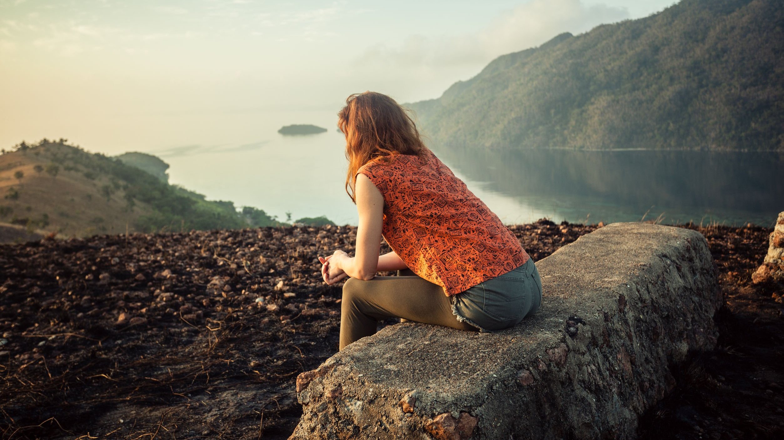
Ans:
<svg viewBox="0 0 784 440"><path fill-rule="evenodd" d="M724 292L718 346L674 369L677 388L644 415L640 437L784 438L784 286L751 280L772 229L692 229L708 239Z"/></svg>

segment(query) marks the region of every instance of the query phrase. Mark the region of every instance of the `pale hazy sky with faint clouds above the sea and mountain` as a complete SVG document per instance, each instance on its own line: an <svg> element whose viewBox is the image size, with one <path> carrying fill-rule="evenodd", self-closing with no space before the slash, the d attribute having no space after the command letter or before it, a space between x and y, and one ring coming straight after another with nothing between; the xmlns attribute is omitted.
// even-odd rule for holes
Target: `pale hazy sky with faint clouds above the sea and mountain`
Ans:
<svg viewBox="0 0 784 440"><path fill-rule="evenodd" d="M503 53L672 3L0 0L0 146L256 142L233 121L334 113L368 89L435 98Z"/></svg>

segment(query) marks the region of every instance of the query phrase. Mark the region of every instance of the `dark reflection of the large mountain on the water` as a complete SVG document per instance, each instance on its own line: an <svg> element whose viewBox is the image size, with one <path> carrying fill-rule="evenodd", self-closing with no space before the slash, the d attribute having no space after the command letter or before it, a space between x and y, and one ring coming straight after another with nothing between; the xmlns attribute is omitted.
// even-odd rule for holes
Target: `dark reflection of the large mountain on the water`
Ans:
<svg viewBox="0 0 784 440"><path fill-rule="evenodd" d="M775 218L784 154L706 151L436 150L469 179L510 197L569 200L639 213ZM585 217L590 208L580 210ZM722 214L724 213L724 214ZM730 214L731 213L731 214ZM635 214L636 215L636 214ZM597 219L598 220L598 219Z"/></svg>

